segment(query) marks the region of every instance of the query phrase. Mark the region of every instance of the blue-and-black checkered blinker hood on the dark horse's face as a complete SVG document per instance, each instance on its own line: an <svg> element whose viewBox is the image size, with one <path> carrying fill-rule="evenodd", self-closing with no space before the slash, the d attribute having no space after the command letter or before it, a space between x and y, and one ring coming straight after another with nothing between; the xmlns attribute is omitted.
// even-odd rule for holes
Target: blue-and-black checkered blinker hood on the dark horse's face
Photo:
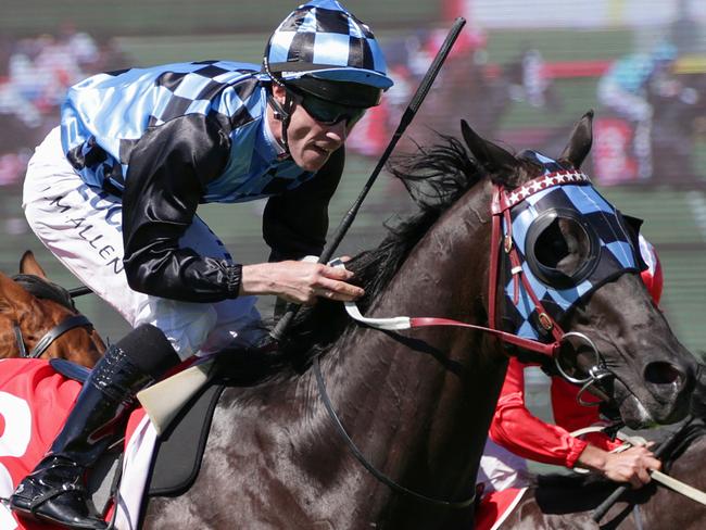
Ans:
<svg viewBox="0 0 706 530"><path fill-rule="evenodd" d="M554 321L560 324L581 299L605 282L626 272L640 272L634 237L585 175L547 167L542 177L510 192L509 203L509 232L519 274ZM508 234L505 222L503 231ZM543 331L538 307L519 281L517 267L513 270L509 255L503 254L503 329L529 339L553 340Z"/></svg>

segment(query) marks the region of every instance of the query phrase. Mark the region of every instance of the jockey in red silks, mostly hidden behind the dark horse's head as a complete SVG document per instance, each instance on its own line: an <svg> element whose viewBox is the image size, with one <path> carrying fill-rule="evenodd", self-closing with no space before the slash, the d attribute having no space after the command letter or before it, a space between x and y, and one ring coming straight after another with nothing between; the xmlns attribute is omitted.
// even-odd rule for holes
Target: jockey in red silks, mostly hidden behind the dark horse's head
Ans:
<svg viewBox="0 0 706 530"><path fill-rule="evenodd" d="M658 304L663 288L661 265L654 247L642 236L640 251L647 265L641 274L642 279L655 304ZM621 453L610 453L620 443L610 441L603 433L588 434L585 440L570 434L573 430L600 422L597 406L578 403L577 386L560 377L552 377L551 400L556 425L533 416L525 405L526 366L516 357L509 361L481 458L479 482L483 483L484 490L526 485L524 458L567 468L591 469L610 480L630 482L634 488L650 481L648 470L659 469L660 462L648 449L635 446ZM590 401L590 398L583 399ZM597 404L597 400L593 400Z"/></svg>

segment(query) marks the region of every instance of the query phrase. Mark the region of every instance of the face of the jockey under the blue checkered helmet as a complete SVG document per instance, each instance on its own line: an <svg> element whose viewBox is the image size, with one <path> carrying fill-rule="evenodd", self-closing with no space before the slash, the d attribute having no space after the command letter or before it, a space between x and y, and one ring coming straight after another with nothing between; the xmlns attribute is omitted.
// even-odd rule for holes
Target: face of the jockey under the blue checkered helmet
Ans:
<svg viewBox="0 0 706 530"><path fill-rule="evenodd" d="M273 96L283 105L286 91L282 87L273 84ZM267 116L270 130L281 141L281 122L274 119L269 106ZM320 169L331 153L345 142L348 129L345 119L326 125L314 119L302 105L295 103L287 129L287 143L292 160L304 171Z"/></svg>

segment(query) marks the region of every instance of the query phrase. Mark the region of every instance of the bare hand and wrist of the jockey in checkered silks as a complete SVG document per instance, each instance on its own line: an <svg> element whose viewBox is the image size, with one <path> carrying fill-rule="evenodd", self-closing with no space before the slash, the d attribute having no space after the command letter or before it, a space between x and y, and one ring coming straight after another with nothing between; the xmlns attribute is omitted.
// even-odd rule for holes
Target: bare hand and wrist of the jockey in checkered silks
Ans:
<svg viewBox="0 0 706 530"><path fill-rule="evenodd" d="M317 296L351 301L365 291L346 281L353 273L320 263L278 262L244 265L240 294L276 294L288 302L314 304Z"/></svg>

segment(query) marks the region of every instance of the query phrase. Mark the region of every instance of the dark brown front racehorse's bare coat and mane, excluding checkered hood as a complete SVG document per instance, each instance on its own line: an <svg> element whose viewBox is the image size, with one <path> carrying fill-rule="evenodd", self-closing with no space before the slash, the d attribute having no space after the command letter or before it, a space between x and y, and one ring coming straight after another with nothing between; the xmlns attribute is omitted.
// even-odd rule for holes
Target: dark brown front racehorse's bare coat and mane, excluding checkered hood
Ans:
<svg viewBox="0 0 706 530"><path fill-rule="evenodd" d="M557 159L564 167L578 169L587 156L591 119L579 122ZM420 214L351 263L366 289L360 305L368 316L489 324L491 198L496 185L521 187L544 167L465 123L462 130L470 154L447 138L398 172L415 186ZM589 247L579 225L546 232L541 258L547 267L560 274L582 267ZM504 285L493 292L503 298ZM560 326L597 345L612 375L602 390L626 421L672 422L686 414L695 362L634 269L582 296ZM472 509L449 503L472 497L506 369L500 341L462 327L379 331L326 302L291 335L292 354L322 354L332 407L369 468L436 501L401 493L356 460L322 402L315 368L299 357L291 370L225 391L194 485L178 499L152 500L146 528L472 528ZM244 356L243 366L257 358Z"/></svg>

